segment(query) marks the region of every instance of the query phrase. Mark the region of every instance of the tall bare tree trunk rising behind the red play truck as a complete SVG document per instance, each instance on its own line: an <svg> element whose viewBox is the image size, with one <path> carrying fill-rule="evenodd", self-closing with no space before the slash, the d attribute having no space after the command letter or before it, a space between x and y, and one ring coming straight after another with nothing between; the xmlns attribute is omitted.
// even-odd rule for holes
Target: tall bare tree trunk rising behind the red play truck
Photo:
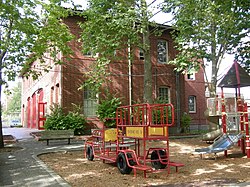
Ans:
<svg viewBox="0 0 250 187"><path fill-rule="evenodd" d="M144 93L143 100L146 103L152 103L152 64L150 56L150 40L149 40L149 19L147 15L147 3L141 0L142 9L142 37L144 50Z"/></svg>

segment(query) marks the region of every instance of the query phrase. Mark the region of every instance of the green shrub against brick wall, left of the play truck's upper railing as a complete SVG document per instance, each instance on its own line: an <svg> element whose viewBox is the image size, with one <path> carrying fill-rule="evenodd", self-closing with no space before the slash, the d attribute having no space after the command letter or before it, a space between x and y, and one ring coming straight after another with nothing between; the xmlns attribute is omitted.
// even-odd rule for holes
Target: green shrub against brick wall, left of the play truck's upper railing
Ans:
<svg viewBox="0 0 250 187"><path fill-rule="evenodd" d="M107 98L101 99L98 105L97 114L100 120L104 122L107 127L115 126L116 109L121 106L120 98L108 95ZM107 118L109 118L107 120Z"/></svg>

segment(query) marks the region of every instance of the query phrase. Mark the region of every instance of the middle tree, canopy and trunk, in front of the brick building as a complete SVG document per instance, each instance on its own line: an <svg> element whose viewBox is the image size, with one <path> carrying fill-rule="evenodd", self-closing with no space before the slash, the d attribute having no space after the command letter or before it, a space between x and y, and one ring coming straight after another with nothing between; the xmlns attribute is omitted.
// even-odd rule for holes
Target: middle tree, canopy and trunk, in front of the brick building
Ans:
<svg viewBox="0 0 250 187"><path fill-rule="evenodd" d="M97 61L87 75L86 84L99 89L105 81L107 65L112 61L115 50L128 48L132 60L134 47L144 53L144 102L152 103L152 65L150 58L149 26L152 13L146 0L89 0L84 12L86 21L80 24L83 49L99 54ZM154 2L154 1L153 1ZM101 23L101 24L100 24ZM133 46L133 48L131 47Z"/></svg>

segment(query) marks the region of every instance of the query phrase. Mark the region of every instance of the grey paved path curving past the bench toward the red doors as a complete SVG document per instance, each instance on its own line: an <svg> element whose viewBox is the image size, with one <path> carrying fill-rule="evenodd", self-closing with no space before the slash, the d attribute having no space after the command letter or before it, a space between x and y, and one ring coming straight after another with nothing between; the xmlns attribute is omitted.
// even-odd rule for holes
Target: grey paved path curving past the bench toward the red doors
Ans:
<svg viewBox="0 0 250 187"><path fill-rule="evenodd" d="M83 142L72 140L38 142L31 135L34 130L26 128L3 128L4 135L13 135L17 142L15 147L22 147L15 152L0 153L0 186L70 186L64 179L49 169L37 155L53 151L82 150ZM7 145L10 146L10 145Z"/></svg>

